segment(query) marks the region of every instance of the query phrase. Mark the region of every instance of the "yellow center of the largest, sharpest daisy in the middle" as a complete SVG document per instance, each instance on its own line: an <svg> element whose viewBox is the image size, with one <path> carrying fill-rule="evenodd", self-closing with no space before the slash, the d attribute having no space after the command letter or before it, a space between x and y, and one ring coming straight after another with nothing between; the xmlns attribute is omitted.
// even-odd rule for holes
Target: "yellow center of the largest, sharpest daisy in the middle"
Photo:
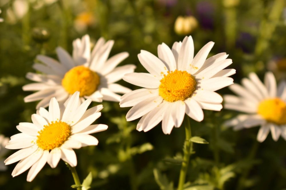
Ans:
<svg viewBox="0 0 286 190"><path fill-rule="evenodd" d="M196 80L187 71L168 71L160 82L159 95L169 102L184 101L196 89Z"/></svg>

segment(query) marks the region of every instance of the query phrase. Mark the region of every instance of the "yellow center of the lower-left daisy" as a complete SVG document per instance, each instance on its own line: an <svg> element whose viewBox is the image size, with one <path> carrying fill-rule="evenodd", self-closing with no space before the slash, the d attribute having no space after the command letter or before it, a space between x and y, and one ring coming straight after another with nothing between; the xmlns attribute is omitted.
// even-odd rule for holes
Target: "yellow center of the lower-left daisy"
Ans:
<svg viewBox="0 0 286 190"><path fill-rule="evenodd" d="M37 145L43 150L61 146L71 134L70 126L61 121L51 122L38 132Z"/></svg>

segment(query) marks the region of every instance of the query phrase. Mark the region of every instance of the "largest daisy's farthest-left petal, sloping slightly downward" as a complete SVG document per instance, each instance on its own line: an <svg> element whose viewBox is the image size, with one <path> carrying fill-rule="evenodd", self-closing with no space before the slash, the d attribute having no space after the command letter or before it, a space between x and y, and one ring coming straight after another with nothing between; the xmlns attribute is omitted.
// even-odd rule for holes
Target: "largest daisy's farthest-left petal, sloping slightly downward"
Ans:
<svg viewBox="0 0 286 190"><path fill-rule="evenodd" d="M120 107L131 107L138 104L141 101L146 100L147 98L154 96L159 96L158 89L146 89L146 88L137 89L130 93L124 94L121 97L119 105Z"/></svg>

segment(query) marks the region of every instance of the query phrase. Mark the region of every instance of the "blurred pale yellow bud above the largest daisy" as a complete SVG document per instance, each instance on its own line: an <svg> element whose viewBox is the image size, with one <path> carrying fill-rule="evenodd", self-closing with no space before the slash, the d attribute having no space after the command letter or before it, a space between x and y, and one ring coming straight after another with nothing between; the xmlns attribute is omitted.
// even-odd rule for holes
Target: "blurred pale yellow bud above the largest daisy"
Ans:
<svg viewBox="0 0 286 190"><path fill-rule="evenodd" d="M175 21L175 32L179 35L190 34L198 27L198 21L193 16L182 17L179 16Z"/></svg>

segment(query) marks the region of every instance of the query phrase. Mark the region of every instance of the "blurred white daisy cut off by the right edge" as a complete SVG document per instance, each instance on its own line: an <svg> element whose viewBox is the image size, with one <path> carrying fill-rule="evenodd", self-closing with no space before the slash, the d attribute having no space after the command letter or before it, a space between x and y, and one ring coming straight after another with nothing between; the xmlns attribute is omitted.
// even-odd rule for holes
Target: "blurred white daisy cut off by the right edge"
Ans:
<svg viewBox="0 0 286 190"><path fill-rule="evenodd" d="M273 140L281 135L286 140L286 82L276 85L276 79L271 72L264 77L264 84L255 73L244 78L242 85L233 84L229 88L238 96L225 95L225 108L244 112L234 119L228 120L227 126L235 130L261 126L257 140L263 142L269 131Z"/></svg>

